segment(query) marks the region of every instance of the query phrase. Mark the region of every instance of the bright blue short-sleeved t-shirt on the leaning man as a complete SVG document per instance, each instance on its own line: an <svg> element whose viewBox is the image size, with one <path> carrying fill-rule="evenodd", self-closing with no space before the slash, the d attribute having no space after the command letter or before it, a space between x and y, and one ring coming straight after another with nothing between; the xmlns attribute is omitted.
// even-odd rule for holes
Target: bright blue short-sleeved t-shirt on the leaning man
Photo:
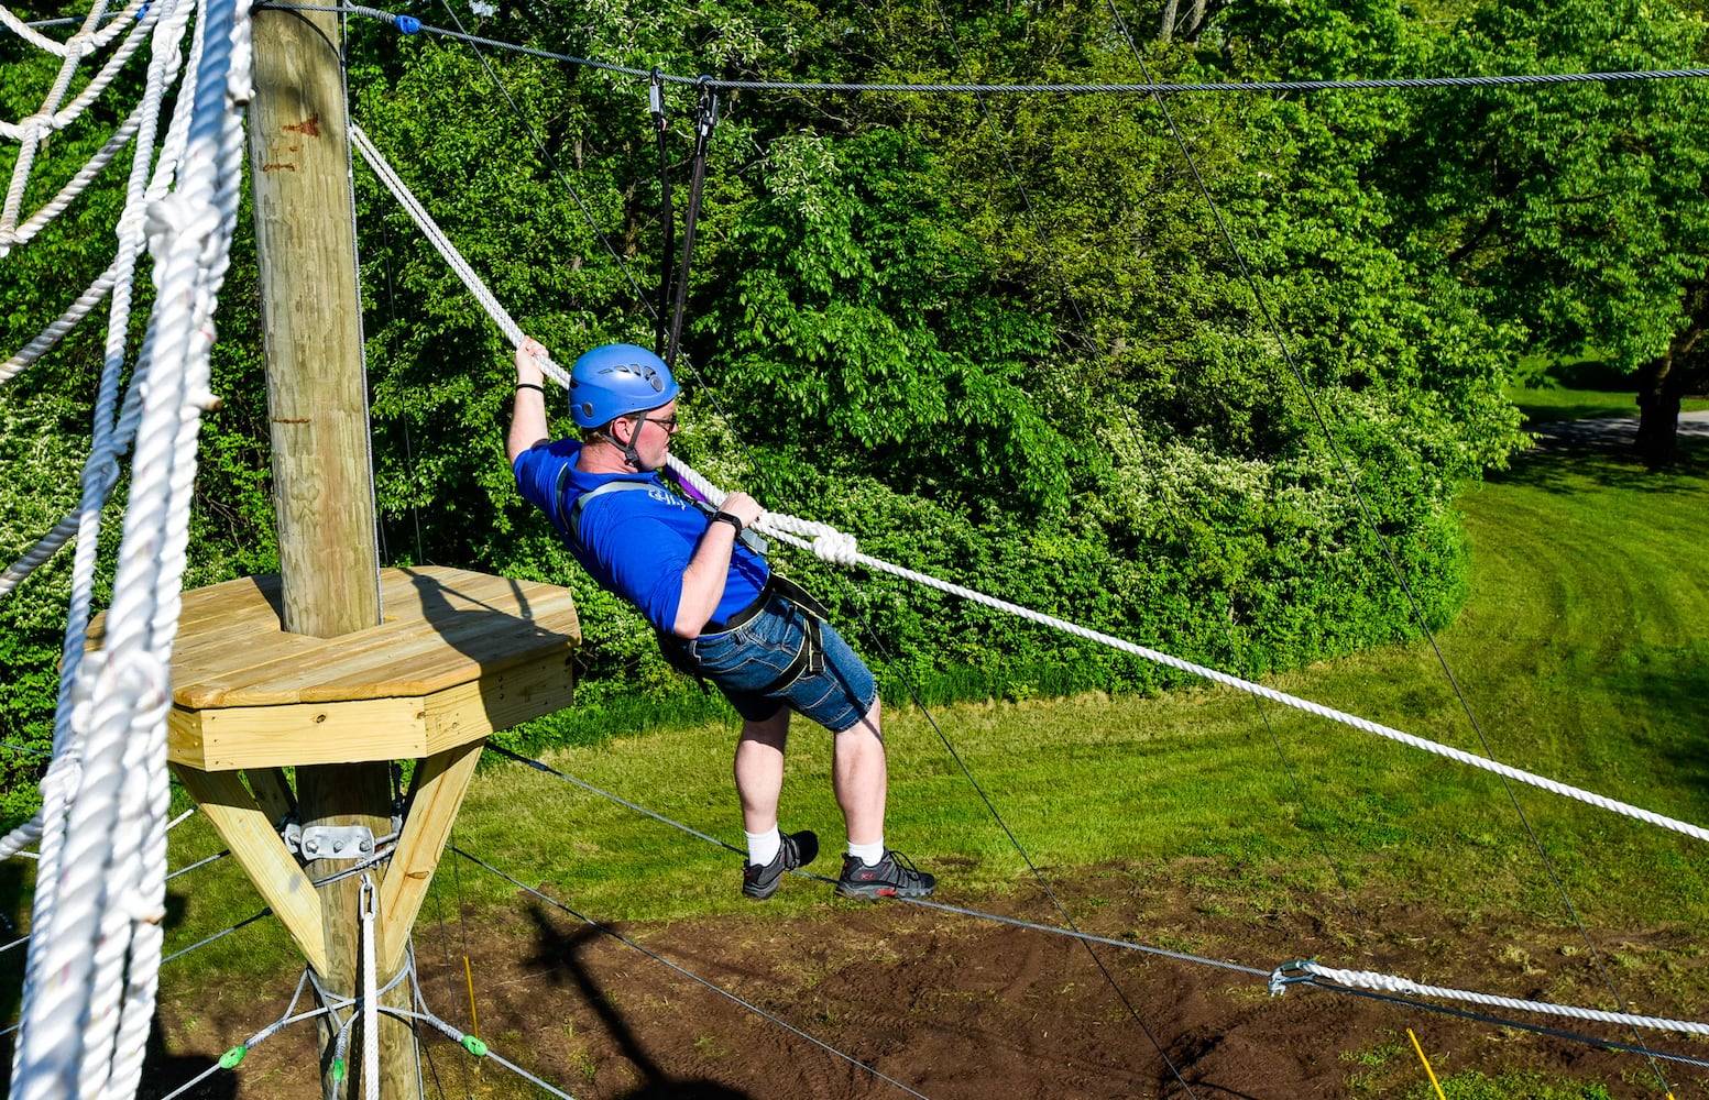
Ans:
<svg viewBox="0 0 1709 1100"><path fill-rule="evenodd" d="M706 533L706 514L665 489L656 471L584 473L576 468L578 454L581 444L574 439L531 446L511 468L516 487L550 518L559 538L600 588L636 605L655 629L670 634L682 601L682 574ZM581 509L581 540L571 538L564 523L576 497L625 480L646 489L590 497ZM723 622L754 603L767 574L766 559L738 541L713 620Z"/></svg>

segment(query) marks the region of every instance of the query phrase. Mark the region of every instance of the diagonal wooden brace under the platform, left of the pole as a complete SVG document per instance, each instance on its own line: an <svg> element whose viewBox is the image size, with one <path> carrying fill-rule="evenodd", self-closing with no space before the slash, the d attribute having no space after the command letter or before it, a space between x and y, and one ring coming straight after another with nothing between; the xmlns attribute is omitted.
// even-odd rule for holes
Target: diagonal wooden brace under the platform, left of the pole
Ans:
<svg viewBox="0 0 1709 1100"><path fill-rule="evenodd" d="M321 904L314 883L273 832L273 822L243 786L238 772L198 772L173 765L173 774L250 873L250 881L291 933L302 958L316 974L326 974L326 933L321 929Z"/></svg>

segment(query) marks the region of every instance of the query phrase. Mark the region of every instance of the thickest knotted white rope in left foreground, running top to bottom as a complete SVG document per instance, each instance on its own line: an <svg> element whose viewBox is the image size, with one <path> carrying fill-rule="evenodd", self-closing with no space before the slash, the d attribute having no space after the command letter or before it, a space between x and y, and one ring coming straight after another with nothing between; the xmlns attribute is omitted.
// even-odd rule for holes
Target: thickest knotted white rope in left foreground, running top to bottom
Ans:
<svg viewBox="0 0 1709 1100"><path fill-rule="evenodd" d="M164 7L171 7L169 3ZM166 714L171 642L188 543L195 439L208 393L212 311L229 261L243 169L238 104L248 99L248 9L210 5L179 188L150 203L156 309L142 376L137 459L106 647L73 685L85 738L77 798L44 815L43 876L60 904L31 953L14 1095L130 1097L154 1009L164 904ZM50 863L48 837L63 834ZM111 922L108 919L111 914ZM108 943L121 943L106 951ZM96 958L89 958L97 945ZM111 987L123 982L123 994ZM118 1003L118 1013L101 1011Z"/></svg>

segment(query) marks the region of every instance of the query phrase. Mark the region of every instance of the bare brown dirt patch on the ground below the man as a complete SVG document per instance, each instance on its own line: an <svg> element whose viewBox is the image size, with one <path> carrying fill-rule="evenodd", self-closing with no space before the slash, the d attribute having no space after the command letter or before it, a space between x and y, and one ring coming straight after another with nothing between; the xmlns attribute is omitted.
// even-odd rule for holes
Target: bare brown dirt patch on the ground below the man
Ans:
<svg viewBox="0 0 1709 1100"><path fill-rule="evenodd" d="M759 905L737 917L617 929L754 1008L523 892L514 907L468 912L443 936L431 924L417 929L422 989L439 1016L468 1030L467 934L480 1035L555 1088L588 1098L907 1090L933 1100L1424 1097L1429 1085L1407 1028L1439 1076L1536 1071L1601 1085L1613 1097L1661 1095L1637 1054L1324 989L1271 998L1261 977L1095 946L1111 984L1077 939L897 902L839 902L820 883L791 880L784 888L824 890L827 900L788 919ZM543 890L552 893L550 885ZM1145 943L1242 965L1268 968L1316 953L1330 965L1441 986L1612 1001L1571 927L1489 914L1454 924L1381 898L1360 900L1362 916L1331 921L1307 914L1345 912L1342 898L1299 898L1290 914L1229 916L1239 912L1232 892L1215 897L1186 878L1121 866L1085 869L1056 890L1070 912L1087 914L1089 933L1121 938L1143 929ZM942 900L1060 922L1036 895ZM1702 1016L1709 967L1685 931L1593 936L1634 1011ZM256 984L289 989L291 979ZM162 1047L142 1095L159 1097L195 1076L282 1008L251 989L164 991ZM1617 1028L1523 1020L1634 1042ZM1644 1042L1709 1059L1709 1042L1656 1032ZM426 1049L427 1095L543 1095L438 1035ZM1663 1068L1680 1100L1709 1095L1709 1069ZM236 1074L220 1073L190 1095L272 1100L318 1091L314 1033L297 1025L256 1047Z"/></svg>

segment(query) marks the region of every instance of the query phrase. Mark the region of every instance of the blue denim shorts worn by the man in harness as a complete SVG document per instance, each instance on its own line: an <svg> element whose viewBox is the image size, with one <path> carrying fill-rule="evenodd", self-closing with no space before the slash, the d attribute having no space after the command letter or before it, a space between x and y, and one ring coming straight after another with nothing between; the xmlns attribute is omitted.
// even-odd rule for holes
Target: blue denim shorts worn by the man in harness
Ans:
<svg viewBox="0 0 1709 1100"><path fill-rule="evenodd" d="M696 670L750 723L791 707L831 733L843 733L872 709L878 685L831 623L820 623L824 671L802 673L795 683L764 692L795 661L805 635L805 613L783 596L772 596L764 611L735 630L704 634L687 649Z"/></svg>

